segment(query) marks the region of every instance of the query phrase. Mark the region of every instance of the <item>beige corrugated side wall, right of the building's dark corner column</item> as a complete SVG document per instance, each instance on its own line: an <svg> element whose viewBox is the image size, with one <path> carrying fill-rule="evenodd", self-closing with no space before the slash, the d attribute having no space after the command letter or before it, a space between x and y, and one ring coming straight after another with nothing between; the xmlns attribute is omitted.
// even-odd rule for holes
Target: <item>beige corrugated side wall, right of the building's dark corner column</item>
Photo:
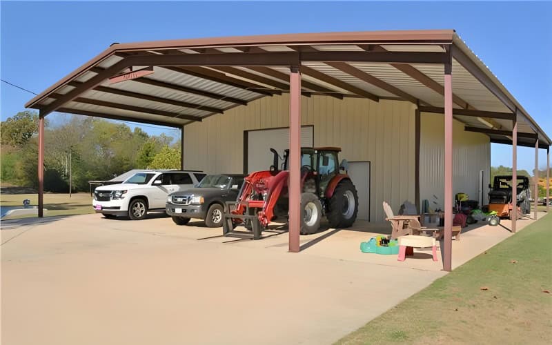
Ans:
<svg viewBox="0 0 552 345"><path fill-rule="evenodd" d="M422 113L420 137L420 199L444 205L444 116ZM464 124L453 123L453 194L467 193L477 200L479 172L484 171L483 202L487 200L491 143L481 133L465 132ZM433 197L435 195L437 199Z"/></svg>

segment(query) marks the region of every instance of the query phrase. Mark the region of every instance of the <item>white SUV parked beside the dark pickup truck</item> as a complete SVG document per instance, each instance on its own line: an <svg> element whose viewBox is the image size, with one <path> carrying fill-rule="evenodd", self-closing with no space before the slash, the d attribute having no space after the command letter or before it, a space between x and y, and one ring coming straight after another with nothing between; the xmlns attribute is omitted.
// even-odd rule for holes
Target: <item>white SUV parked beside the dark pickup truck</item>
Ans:
<svg viewBox="0 0 552 345"><path fill-rule="evenodd" d="M122 184L96 188L92 206L106 218L144 219L148 210L165 210L168 194L193 188L205 175L197 171L144 170Z"/></svg>

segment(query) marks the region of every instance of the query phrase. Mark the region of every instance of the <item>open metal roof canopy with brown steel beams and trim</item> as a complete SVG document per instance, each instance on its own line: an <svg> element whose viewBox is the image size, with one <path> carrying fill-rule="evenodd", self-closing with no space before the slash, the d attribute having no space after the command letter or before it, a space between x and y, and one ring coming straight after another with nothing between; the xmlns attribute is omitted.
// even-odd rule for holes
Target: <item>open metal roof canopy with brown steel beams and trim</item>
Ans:
<svg viewBox="0 0 552 345"><path fill-rule="evenodd" d="M452 66L453 113L466 130L511 144L551 139L454 30L282 34L114 43L26 104L40 110L181 127L260 97L289 91L400 99L421 111L444 107L444 64ZM474 129L475 128L475 129ZM532 144L531 144L532 143Z"/></svg>

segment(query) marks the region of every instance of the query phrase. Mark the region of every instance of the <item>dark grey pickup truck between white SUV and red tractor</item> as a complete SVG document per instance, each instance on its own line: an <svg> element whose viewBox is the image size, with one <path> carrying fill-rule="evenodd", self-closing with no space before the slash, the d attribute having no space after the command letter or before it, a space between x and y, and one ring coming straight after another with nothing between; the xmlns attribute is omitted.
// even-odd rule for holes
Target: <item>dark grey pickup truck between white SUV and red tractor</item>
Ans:
<svg viewBox="0 0 552 345"><path fill-rule="evenodd" d="M207 175L195 187L171 193L167 197L166 212L178 225L186 225L190 218L205 219L206 226L222 226L226 201L235 201L245 175Z"/></svg>

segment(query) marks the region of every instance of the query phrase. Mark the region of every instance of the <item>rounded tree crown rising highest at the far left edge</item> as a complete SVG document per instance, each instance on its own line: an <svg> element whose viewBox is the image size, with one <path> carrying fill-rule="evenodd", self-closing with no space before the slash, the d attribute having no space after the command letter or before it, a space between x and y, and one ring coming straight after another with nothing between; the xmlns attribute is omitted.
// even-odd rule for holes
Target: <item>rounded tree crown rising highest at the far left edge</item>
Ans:
<svg viewBox="0 0 552 345"><path fill-rule="evenodd" d="M37 112L26 110L18 112L14 117L8 117L2 122L1 144L23 146L38 132L39 115Z"/></svg>

